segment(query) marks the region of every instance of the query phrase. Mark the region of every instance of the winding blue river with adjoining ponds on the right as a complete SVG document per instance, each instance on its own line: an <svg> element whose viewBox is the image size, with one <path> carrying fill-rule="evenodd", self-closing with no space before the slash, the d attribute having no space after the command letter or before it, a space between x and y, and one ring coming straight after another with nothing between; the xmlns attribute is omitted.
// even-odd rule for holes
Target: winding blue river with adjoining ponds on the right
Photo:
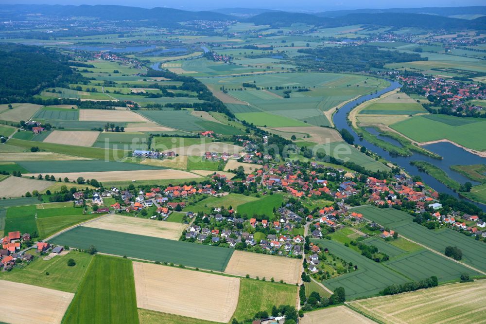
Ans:
<svg viewBox="0 0 486 324"><path fill-rule="evenodd" d="M373 94L367 94L367 95L361 96L360 98L353 100L353 101L347 103L346 105L344 105L343 107L341 107L334 114L334 116L332 118L334 125L336 126L337 129L342 129L342 128L347 129L354 136L354 138L357 139L358 144L364 145L367 150L372 151L373 153L382 156L384 159L399 165L409 175L420 176L422 178L422 180L424 180L428 185L433 187L438 192L443 192L443 193L449 194L451 196L454 196L456 198L461 198L461 197L459 197L459 195L456 192L454 192L452 189L447 187L442 182L439 182L434 177L426 174L425 172L418 171L417 167L410 164L410 161L420 160L420 161L429 162L431 164L434 164L438 168L442 169L453 180L456 180L460 183L464 183L466 181L469 181L473 184L477 184L476 182L471 181L468 178L464 177L463 175L451 170L450 166L454 165L454 164L467 165L467 164L486 163L485 158L482 158L482 157L479 157L475 154L469 153L468 151L466 151L466 150L464 150L460 147L457 147L457 146L455 146L451 143L436 143L436 144L429 144L429 145L424 146L424 148L430 150L431 152L434 152L434 153L442 156L443 157L442 160L437 160L437 159L431 158L429 156L426 156L426 155L423 155L423 154L420 154L420 153L415 153L415 152L413 152L413 155L409 156L409 157L395 156L395 155L392 155L389 152L385 151L381 147L376 146L375 144L371 144L364 139L360 139L358 134L356 134L356 132L353 130L353 128L351 126L347 125L346 116L347 116L347 113L349 111L351 111L351 109L355 108L359 104L362 104L364 101L367 101L367 100L370 100L370 99L373 99L373 98L377 98L378 96L380 96L380 95L382 95L382 94L384 94L388 91L395 90L395 89L401 87L401 84L397 81L393 81L393 80L388 80L388 81L390 81L390 83L391 83L389 87L387 87L383 90L380 90L376 93L373 93ZM469 199L465 199L465 200L470 201ZM480 207L483 211L486 211L486 205L485 204L481 204L481 203L477 203L477 202L473 202L473 203L475 205L477 205L478 207Z"/></svg>

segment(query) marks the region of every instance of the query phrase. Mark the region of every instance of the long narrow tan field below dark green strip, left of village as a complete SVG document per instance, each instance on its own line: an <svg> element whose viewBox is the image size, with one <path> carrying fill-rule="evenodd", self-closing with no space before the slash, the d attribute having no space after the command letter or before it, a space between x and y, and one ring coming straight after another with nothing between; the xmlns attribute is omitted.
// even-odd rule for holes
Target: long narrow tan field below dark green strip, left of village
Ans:
<svg viewBox="0 0 486 324"><path fill-rule="evenodd" d="M37 176L34 173L25 174L27 177ZM135 170L135 171L100 171L100 172L65 172L51 173L56 179L68 177L73 181L78 177L96 179L98 181L130 181L130 180L165 180L165 179L192 179L200 178L198 175L181 170Z"/></svg>

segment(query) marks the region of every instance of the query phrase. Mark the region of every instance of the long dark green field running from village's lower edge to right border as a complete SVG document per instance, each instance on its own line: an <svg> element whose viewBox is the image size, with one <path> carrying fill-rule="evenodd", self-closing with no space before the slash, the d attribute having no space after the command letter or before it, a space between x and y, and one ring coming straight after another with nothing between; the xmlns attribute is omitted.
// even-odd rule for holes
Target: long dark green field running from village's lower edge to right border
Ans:
<svg viewBox="0 0 486 324"><path fill-rule="evenodd" d="M380 209L365 206L357 208L356 212L362 213L365 218L389 227L399 232L400 235L426 245L437 252L444 253L445 248L449 245L457 246L463 253L461 262L486 271L486 260L482 257L486 253L486 246L472 237L449 228L428 230L425 226L414 223L412 216L393 208Z"/></svg>

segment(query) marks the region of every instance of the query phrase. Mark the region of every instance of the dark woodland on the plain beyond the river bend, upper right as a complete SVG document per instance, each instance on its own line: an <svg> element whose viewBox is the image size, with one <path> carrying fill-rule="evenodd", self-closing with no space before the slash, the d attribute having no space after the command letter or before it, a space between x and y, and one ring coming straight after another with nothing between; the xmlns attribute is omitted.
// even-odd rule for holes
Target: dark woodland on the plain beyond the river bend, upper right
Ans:
<svg viewBox="0 0 486 324"><path fill-rule="evenodd" d="M387 63L427 60L415 53L379 50L374 46L339 46L300 49L298 53L307 56L297 57L299 67L325 71L367 71L371 68L382 69Z"/></svg>

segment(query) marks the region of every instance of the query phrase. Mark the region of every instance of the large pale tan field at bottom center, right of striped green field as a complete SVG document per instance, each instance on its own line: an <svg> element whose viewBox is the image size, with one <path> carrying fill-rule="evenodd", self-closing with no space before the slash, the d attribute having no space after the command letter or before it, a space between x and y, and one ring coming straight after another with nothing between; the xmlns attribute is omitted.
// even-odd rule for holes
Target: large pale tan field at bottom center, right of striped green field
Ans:
<svg viewBox="0 0 486 324"><path fill-rule="evenodd" d="M238 304L239 278L140 262L133 272L139 308L228 323Z"/></svg>

